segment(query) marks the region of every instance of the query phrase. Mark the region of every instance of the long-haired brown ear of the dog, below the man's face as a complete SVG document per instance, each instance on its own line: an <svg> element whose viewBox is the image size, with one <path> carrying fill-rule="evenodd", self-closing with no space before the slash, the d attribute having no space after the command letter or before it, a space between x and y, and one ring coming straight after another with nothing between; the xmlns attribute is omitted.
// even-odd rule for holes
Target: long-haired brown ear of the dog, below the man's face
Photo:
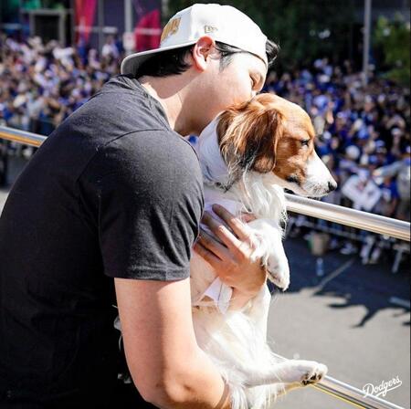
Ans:
<svg viewBox="0 0 411 409"><path fill-rule="evenodd" d="M269 173L276 165L282 115L256 100L223 113L217 127L220 150L237 179L250 170Z"/></svg>

